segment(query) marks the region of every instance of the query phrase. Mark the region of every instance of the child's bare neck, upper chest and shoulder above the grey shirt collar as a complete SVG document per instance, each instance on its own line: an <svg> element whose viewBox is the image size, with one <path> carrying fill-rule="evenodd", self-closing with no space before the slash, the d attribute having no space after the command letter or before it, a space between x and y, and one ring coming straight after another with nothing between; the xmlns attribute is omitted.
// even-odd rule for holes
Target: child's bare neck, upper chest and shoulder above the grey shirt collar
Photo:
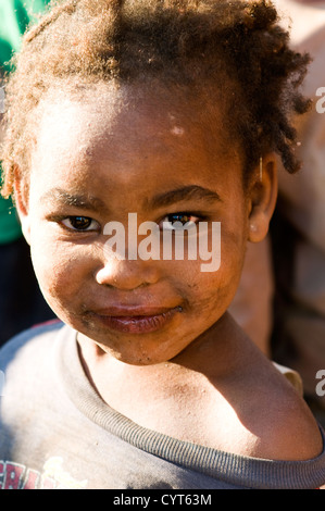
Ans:
<svg viewBox="0 0 325 511"><path fill-rule="evenodd" d="M317 426L293 387L229 316L213 331L215 342L203 335L175 359L146 367L109 360L83 339L84 367L105 402L149 429L255 458L317 456Z"/></svg>

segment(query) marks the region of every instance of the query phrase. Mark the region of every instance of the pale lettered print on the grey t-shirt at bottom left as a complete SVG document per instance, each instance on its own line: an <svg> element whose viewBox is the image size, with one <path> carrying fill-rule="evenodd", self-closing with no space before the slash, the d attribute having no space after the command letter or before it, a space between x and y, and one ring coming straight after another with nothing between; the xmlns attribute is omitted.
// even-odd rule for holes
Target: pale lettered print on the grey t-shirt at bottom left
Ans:
<svg viewBox="0 0 325 511"><path fill-rule="evenodd" d="M0 489L85 489L87 481L76 481L63 470L63 459L50 458L39 472L21 463L0 460Z"/></svg>

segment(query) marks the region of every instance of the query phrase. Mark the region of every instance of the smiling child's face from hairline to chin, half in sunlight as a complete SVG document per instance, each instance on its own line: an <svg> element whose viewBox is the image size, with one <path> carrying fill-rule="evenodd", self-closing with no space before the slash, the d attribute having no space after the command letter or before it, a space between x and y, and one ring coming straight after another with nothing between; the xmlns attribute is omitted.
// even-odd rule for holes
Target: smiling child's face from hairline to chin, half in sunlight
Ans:
<svg viewBox="0 0 325 511"><path fill-rule="evenodd" d="M28 204L18 201L18 209L41 290L58 316L120 360L151 364L172 359L223 316L257 227L239 151L230 140L227 148L216 108L212 125L199 101L135 92L49 103ZM129 256L130 239L139 246L146 238L135 238L129 213L137 226L155 223L162 246L164 229L190 221L197 230L208 223L211 249L220 222L220 267L202 271L204 261L188 260L186 246L183 260L164 259L162 248L159 259ZM107 249L111 222L125 227L125 259Z"/></svg>

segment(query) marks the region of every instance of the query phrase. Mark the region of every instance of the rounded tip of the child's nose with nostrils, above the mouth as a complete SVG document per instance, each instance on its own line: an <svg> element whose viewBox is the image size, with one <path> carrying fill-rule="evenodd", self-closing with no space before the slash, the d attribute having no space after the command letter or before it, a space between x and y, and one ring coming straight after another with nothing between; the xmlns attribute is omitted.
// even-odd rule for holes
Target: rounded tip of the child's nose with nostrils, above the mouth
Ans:
<svg viewBox="0 0 325 511"><path fill-rule="evenodd" d="M102 286L132 290L159 281L155 261L107 260L97 271L96 281Z"/></svg>

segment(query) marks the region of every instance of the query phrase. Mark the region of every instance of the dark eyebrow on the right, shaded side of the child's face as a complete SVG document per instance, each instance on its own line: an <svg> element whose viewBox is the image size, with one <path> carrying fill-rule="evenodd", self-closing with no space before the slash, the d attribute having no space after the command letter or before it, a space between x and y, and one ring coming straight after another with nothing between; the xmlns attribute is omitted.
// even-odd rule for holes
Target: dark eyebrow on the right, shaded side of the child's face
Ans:
<svg viewBox="0 0 325 511"><path fill-rule="evenodd" d="M157 195L149 201L149 207L162 208L185 200L205 200L211 203L214 203L215 201L222 202L222 199L216 191L202 186L190 185Z"/></svg>

